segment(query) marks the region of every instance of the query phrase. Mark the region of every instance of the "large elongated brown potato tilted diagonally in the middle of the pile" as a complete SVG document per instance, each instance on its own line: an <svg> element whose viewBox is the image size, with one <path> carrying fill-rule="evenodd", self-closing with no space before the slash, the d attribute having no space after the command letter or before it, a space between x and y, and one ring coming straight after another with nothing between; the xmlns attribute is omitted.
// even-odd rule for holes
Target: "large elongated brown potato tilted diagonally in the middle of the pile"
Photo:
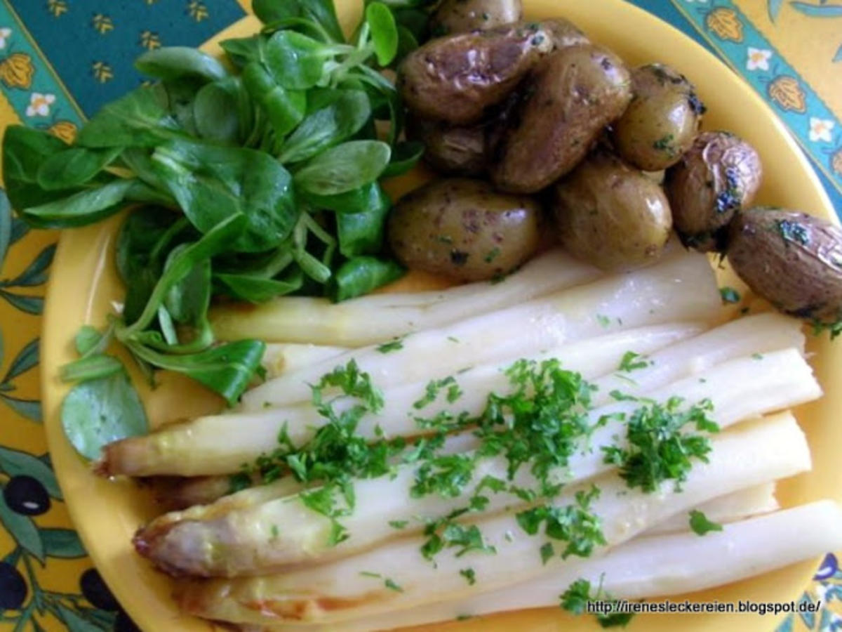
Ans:
<svg viewBox="0 0 842 632"><path fill-rule="evenodd" d="M501 190L534 193L552 185L583 160L603 127L632 100L626 66L600 46L570 46L547 56L532 87L493 169Z"/></svg>

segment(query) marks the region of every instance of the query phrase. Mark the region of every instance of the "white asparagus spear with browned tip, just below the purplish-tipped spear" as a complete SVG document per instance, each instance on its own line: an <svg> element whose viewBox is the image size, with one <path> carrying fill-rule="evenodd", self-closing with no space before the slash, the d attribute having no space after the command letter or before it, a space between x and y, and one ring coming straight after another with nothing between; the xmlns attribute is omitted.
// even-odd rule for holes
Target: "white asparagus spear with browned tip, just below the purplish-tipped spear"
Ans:
<svg viewBox="0 0 842 632"><path fill-rule="evenodd" d="M591 510L601 519L606 546L626 542L718 495L810 468L807 440L791 415L743 424L713 437L711 443L709 462L695 465L682 491L667 481L656 493L645 494L628 489L616 474L594 481L601 494ZM577 486L571 486L554 505L567 506L576 491ZM470 551L459 556L456 549L445 549L433 565L420 553L424 538L401 538L331 564L272 576L184 583L179 603L189 613L233 623L335 623L502 589L572 563L555 556L541 565L539 549L546 538L525 535L511 515L482 520L477 526L495 554ZM473 585L460 574L466 568L477 578ZM389 578L402 592L361 573Z"/></svg>

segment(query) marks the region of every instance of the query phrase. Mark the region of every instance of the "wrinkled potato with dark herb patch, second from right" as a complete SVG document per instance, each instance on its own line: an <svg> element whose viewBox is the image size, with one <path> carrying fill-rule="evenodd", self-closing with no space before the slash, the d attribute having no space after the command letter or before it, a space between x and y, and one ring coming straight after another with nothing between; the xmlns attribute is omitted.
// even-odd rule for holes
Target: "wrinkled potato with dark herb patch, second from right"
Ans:
<svg viewBox="0 0 842 632"><path fill-rule="evenodd" d="M723 229L751 205L763 179L759 154L727 131L707 131L667 170L663 187L682 243L722 249Z"/></svg>

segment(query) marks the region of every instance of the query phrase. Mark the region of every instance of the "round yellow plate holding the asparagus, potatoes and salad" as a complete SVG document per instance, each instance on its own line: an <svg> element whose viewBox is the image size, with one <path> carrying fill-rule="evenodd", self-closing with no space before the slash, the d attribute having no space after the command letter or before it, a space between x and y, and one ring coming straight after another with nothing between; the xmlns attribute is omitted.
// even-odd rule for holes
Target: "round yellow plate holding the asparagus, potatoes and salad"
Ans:
<svg viewBox="0 0 842 632"><path fill-rule="evenodd" d="M338 0L348 21L357 0ZM667 24L621 0L525 0L530 19L564 16L583 28L593 40L610 46L632 65L668 62L691 78L709 111L706 127L737 132L757 147L765 163L761 203L790 206L821 217L835 215L812 169L785 127L748 85L722 62ZM257 29L253 19L236 24L221 37L247 35ZM417 183L417 179L415 181ZM400 185L412 185L412 179ZM393 191L395 192L395 191ZM151 499L135 484L98 479L77 458L61 432L59 407L67 387L57 368L73 359L72 339L82 324L102 325L112 301L123 289L112 264L115 230L120 217L102 225L68 231L61 237L47 294L43 336L43 397L45 425L56 474L67 498L73 522L109 586L125 608L147 632L206 632L210 624L178 612L169 595L171 581L152 570L131 548L136 528L156 515ZM787 480L780 498L791 506L819 498L837 501L842 491L842 343L831 345L826 337L811 340L812 362L827 394L816 404L797 410L813 450L813 472ZM136 380L140 383L140 380ZM181 380L165 380L144 400L153 423L179 415L213 410L218 401ZM189 389L188 390L185 390ZM195 395L195 396L194 396ZM722 560L727 564L727 560ZM694 599L721 601L755 599L789 601L800 596L816 568L809 561L766 576L742 581ZM631 629L744 630L774 629L776 620L754 615L649 615L637 617ZM574 624L559 610L511 613L460 624L462 630L594 629L590 620ZM442 626L440 626L442 627Z"/></svg>

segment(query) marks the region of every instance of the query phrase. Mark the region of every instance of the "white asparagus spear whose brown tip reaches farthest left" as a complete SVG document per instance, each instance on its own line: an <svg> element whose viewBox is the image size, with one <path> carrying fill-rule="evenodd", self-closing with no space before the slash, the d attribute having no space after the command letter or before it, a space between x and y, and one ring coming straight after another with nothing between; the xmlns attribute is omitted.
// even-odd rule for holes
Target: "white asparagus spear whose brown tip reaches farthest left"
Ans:
<svg viewBox="0 0 842 632"><path fill-rule="evenodd" d="M678 323L626 329L544 350L531 357L537 361L560 357L568 370L581 372L584 378L591 379L614 370L632 346L643 353L657 351L697 335L703 328L700 323ZM776 333L765 328L761 330L769 334L768 340L782 341L792 337L782 330ZM748 340L754 340L754 336ZM459 383L464 391L457 403L459 410L469 410L473 415L482 412L489 393L495 389L507 389L508 381L502 371L515 359L475 367L459 374ZM366 415L360 420L357 434L374 439L376 426L381 426L389 437L418 434L416 422L407 413L413 410L413 402L424 397L426 387L427 381L387 388L383 410L379 415ZM347 410L356 403L345 398L337 402L336 410ZM424 415L432 416L441 409L442 404L431 404L424 409ZM101 469L109 474L132 476L230 474L240 469L243 463L251 463L260 454L270 452L277 445L278 433L284 426L290 441L300 446L324 424L324 418L310 403L199 417L166 426L146 437L133 437L110 444L105 448Z"/></svg>

